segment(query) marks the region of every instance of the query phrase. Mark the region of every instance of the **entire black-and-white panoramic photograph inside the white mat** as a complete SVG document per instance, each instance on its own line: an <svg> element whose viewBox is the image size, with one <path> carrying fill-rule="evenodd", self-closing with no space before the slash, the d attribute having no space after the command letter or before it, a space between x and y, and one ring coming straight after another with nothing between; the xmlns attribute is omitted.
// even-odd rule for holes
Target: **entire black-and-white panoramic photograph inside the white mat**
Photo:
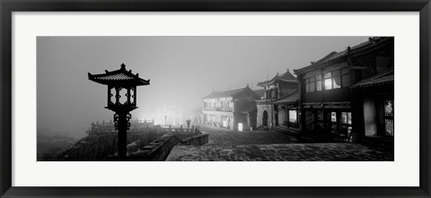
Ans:
<svg viewBox="0 0 431 198"><path fill-rule="evenodd" d="M394 41L39 36L37 161L394 161Z"/></svg>

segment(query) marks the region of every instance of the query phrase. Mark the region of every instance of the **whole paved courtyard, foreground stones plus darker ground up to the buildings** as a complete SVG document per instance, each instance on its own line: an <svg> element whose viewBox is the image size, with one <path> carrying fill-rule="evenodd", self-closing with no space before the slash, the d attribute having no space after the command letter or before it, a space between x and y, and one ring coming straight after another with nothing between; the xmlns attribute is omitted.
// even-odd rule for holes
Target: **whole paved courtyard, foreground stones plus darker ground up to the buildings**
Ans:
<svg viewBox="0 0 431 198"><path fill-rule="evenodd" d="M392 161L393 149L348 142L303 143L295 136L204 128L208 143L175 146L171 161Z"/></svg>

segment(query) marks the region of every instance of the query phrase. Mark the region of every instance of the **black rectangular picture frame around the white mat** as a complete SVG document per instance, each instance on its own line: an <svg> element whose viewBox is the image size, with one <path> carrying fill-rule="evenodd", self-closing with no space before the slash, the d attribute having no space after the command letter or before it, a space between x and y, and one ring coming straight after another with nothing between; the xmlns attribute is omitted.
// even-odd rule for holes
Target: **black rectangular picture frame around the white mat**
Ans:
<svg viewBox="0 0 431 198"><path fill-rule="evenodd" d="M429 0L0 0L1 9L1 197L431 197L430 193L430 11ZM13 12L419 12L419 187L14 187L12 186Z"/></svg>

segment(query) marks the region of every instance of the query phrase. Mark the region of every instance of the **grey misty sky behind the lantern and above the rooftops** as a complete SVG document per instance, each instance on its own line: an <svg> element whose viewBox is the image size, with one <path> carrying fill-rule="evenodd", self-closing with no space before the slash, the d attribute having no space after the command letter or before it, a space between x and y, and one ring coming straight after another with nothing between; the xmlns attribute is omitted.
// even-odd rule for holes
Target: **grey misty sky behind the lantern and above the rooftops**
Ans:
<svg viewBox="0 0 431 198"><path fill-rule="evenodd" d="M84 136L92 122L109 121L107 88L87 73L126 68L150 79L137 89L132 118L157 108L185 113L212 90L245 87L319 60L368 37L38 37L38 128ZM268 69L267 69L268 67ZM268 72L267 72L268 70Z"/></svg>

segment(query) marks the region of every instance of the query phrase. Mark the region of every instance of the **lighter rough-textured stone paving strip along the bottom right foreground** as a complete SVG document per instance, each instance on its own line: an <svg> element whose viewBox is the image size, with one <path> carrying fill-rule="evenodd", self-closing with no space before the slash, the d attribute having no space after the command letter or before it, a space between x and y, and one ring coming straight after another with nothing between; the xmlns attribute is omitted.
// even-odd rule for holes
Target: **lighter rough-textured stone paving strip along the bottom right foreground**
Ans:
<svg viewBox="0 0 431 198"><path fill-rule="evenodd" d="M393 161L393 150L356 143L175 146L168 161Z"/></svg>

